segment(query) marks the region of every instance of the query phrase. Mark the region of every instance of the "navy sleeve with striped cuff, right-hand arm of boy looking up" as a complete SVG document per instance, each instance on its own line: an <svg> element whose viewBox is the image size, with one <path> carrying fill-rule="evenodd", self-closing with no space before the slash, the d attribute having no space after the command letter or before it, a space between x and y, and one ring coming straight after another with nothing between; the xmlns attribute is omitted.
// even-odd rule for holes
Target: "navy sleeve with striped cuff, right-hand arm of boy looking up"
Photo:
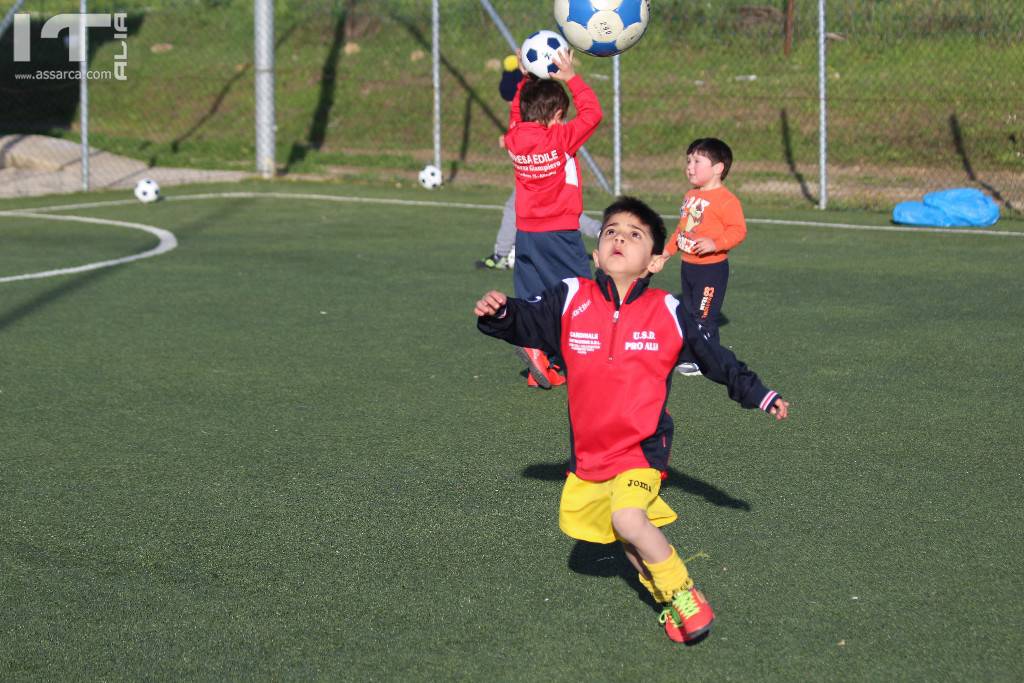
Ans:
<svg viewBox="0 0 1024 683"><path fill-rule="evenodd" d="M724 384L729 398L743 408L757 408L768 412L779 394L762 384L761 379L729 349L719 344L707 333L700 323L676 307L676 317L683 331L683 348L689 347L696 358L697 367L708 379ZM680 360L682 354L680 354Z"/></svg>

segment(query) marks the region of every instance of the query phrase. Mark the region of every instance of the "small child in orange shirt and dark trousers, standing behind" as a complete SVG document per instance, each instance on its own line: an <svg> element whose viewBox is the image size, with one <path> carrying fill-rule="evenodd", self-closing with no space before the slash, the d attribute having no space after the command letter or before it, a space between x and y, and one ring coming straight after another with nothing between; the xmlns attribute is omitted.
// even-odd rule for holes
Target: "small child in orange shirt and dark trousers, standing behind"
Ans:
<svg viewBox="0 0 1024 683"><path fill-rule="evenodd" d="M682 257L680 280L683 308L719 341L718 316L729 282L729 250L746 237L743 208L723 184L732 166L732 150L714 137L701 137L686 148L686 178L693 188L679 209L679 224L666 242L662 257L677 251ZM685 354L684 354L685 355ZM699 375L691 356L676 368L682 375Z"/></svg>

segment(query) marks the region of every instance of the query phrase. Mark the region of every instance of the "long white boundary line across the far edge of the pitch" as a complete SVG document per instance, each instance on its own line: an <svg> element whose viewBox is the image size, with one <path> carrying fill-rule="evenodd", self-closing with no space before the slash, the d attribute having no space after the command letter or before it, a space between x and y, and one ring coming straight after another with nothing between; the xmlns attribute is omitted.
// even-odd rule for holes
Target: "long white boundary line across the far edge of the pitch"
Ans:
<svg viewBox="0 0 1024 683"><path fill-rule="evenodd" d="M200 195L179 195L176 197L165 197L163 201L187 202L207 199L258 199L269 197L274 199L313 200L319 202L338 203L358 203L358 204L379 204L385 206L413 206L413 207L433 207L442 209L483 209L502 210L504 205L498 204L466 204L460 202L432 202L426 200L394 200L376 199L370 197L347 197L342 195L313 195L308 193L208 193ZM125 206L136 204L134 200L112 200L108 202L89 202L84 204L55 204L52 206L38 207L35 209L19 209L19 212L35 211L66 211L69 209L92 209L96 207ZM600 212L589 211L591 215L600 215ZM665 214L663 218L676 219L675 214ZM861 223L830 223L816 220L783 220L774 218L748 218L748 223L765 223L770 225L794 225L804 227L824 227L840 230L878 230L882 232L910 232L910 233L933 233L933 234L984 234L998 238L1024 238L1024 232L1012 230L986 230L982 228L952 228L952 227L909 227L904 225L864 225Z"/></svg>

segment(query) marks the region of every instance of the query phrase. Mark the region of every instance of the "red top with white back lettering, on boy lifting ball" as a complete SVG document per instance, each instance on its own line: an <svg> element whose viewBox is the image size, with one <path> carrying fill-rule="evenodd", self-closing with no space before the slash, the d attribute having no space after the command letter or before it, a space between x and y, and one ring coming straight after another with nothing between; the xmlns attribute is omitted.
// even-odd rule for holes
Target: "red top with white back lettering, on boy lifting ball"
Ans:
<svg viewBox="0 0 1024 683"><path fill-rule="evenodd" d="M552 126L523 122L519 93L527 81L519 82L505 133L505 148L515 168L516 227L526 232L578 230L583 188L575 153L601 123L601 104L590 86L574 76L566 85L575 102L575 118Z"/></svg>

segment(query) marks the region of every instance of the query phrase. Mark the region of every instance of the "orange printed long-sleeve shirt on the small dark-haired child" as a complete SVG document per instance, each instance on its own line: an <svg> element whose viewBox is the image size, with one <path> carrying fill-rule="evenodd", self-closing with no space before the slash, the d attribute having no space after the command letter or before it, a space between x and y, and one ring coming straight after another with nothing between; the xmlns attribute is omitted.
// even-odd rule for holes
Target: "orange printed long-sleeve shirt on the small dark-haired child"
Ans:
<svg viewBox="0 0 1024 683"><path fill-rule="evenodd" d="M690 250L697 238L711 238L717 251L698 256ZM666 253L680 252L687 263L719 263L729 256L729 250L746 238L743 207L727 187L691 189L679 207L679 224L666 242Z"/></svg>

